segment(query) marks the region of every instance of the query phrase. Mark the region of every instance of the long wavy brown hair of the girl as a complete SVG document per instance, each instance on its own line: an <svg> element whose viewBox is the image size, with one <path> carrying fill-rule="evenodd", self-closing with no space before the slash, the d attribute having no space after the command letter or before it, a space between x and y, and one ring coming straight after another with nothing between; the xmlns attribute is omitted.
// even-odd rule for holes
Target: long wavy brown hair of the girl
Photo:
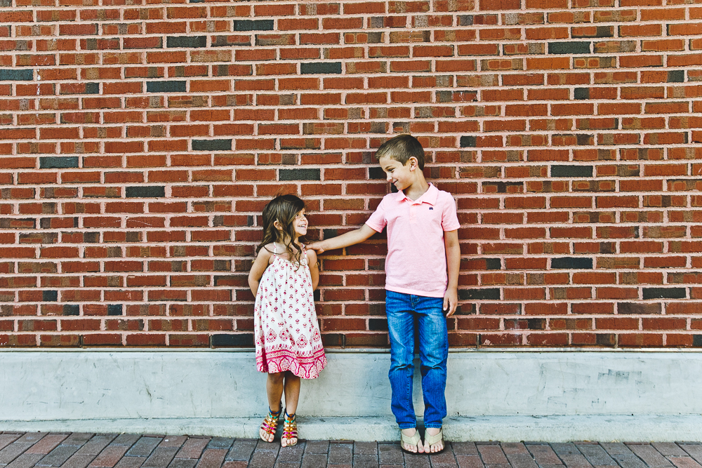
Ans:
<svg viewBox="0 0 702 468"><path fill-rule="evenodd" d="M279 242L285 246L290 260L300 265L300 255L303 251L296 243L293 221L300 211L305 208L305 202L295 195L280 195L263 208L263 241L256 247L256 255L269 243ZM283 229L277 229L274 222L279 222Z"/></svg>

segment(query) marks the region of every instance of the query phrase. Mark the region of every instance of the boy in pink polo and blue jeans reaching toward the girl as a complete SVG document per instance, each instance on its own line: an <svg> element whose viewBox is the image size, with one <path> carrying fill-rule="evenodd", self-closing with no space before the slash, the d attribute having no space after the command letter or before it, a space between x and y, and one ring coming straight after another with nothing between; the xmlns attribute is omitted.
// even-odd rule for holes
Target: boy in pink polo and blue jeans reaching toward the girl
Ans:
<svg viewBox="0 0 702 468"><path fill-rule="evenodd" d="M446 317L456 312L458 246L456 202L448 192L424 178L424 149L411 135L399 135L378 148L376 157L397 193L383 197L366 224L308 248L333 250L363 242L388 227L385 259L385 312L390 335L392 413L401 429L402 449L436 453L444 449L446 359L449 354ZM448 271L448 274L446 272ZM424 396L425 441L421 443L412 405L414 328L419 347Z"/></svg>

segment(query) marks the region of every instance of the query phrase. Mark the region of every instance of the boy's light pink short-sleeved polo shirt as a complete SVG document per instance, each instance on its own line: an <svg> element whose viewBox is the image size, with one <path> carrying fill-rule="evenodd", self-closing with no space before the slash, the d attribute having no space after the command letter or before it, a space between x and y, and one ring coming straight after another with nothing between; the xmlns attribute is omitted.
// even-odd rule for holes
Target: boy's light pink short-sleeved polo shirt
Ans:
<svg viewBox="0 0 702 468"><path fill-rule="evenodd" d="M385 289L444 297L448 284L444 231L461 227L449 192L429 184L416 200L404 192L387 194L366 225L378 232L388 226Z"/></svg>

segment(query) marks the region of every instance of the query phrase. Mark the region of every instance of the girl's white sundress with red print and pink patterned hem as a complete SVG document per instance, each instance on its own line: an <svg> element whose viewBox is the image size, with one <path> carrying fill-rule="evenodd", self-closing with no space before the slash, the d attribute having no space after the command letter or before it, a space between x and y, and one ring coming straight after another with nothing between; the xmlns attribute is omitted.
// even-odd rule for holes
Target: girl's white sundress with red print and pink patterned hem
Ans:
<svg viewBox="0 0 702 468"><path fill-rule="evenodd" d="M290 370L314 379L326 366L304 246L300 265L279 257L274 247L272 262L258 285L253 324L260 372Z"/></svg>

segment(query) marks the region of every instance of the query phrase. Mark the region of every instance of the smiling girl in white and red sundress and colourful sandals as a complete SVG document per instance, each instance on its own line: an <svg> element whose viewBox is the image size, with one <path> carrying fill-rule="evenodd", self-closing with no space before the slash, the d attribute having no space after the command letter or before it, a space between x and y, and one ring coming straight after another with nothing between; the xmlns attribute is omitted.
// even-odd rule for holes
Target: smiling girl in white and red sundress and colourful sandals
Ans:
<svg viewBox="0 0 702 468"><path fill-rule="evenodd" d="M305 234L305 203L294 195L274 198L263 209L263 241L249 273L256 295L256 366L268 373L268 415L259 435L273 441L285 391L283 447L298 443L300 377L314 379L326 366L312 297L319 281L317 254L300 243Z"/></svg>

